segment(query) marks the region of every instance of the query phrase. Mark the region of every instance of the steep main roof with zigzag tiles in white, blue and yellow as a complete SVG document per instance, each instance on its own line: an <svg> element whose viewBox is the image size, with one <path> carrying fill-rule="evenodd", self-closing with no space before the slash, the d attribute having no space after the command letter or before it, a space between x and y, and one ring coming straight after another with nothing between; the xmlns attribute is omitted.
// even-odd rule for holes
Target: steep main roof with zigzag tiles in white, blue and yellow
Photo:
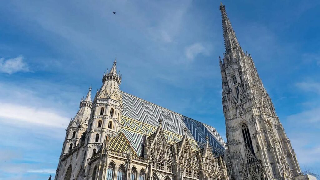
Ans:
<svg viewBox="0 0 320 180"><path fill-rule="evenodd" d="M162 119L164 136L169 144L181 141L186 130L193 150L202 149L206 143L205 136L208 135L209 144L214 154L217 156L224 154L225 142L214 127L131 94L121 93L124 106L120 122L122 131L138 155L142 153L145 135L151 135L156 132L159 126L159 118Z"/></svg>

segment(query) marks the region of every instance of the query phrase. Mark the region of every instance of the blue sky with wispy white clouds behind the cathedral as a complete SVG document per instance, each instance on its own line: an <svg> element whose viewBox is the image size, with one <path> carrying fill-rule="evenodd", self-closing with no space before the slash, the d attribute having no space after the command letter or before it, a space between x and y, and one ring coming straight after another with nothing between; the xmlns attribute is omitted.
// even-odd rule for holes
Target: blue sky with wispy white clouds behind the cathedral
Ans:
<svg viewBox="0 0 320 180"><path fill-rule="evenodd" d="M317 173L319 1L223 3L301 169ZM1 1L0 180L54 176L70 118L115 57L121 90L212 125L225 138L219 4Z"/></svg>

